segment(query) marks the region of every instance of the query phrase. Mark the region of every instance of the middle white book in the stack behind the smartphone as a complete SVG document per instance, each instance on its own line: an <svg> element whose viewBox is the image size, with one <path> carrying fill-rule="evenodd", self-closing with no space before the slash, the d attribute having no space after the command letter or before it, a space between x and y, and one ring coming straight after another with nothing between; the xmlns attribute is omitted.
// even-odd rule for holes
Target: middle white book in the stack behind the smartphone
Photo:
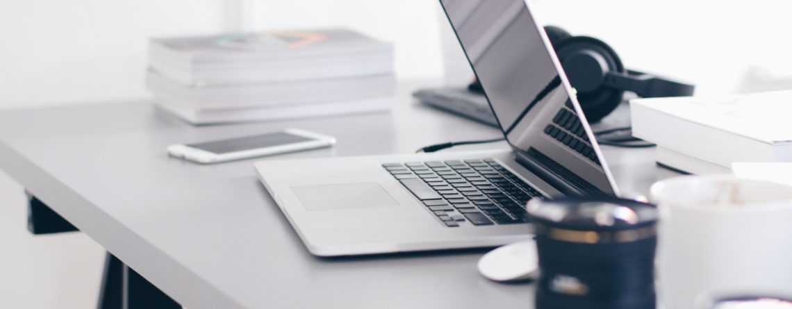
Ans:
<svg viewBox="0 0 792 309"><path fill-rule="evenodd" d="M146 74L146 85L157 96L170 97L182 105L206 111L389 97L396 88L394 74L304 82L185 86L153 70Z"/></svg>

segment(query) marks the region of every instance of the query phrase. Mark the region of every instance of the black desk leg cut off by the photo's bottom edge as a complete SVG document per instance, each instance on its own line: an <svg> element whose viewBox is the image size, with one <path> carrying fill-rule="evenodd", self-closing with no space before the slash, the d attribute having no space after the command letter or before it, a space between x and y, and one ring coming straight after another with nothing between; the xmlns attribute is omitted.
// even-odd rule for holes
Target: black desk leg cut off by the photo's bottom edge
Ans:
<svg viewBox="0 0 792 309"><path fill-rule="evenodd" d="M99 309L178 309L181 305L108 253Z"/></svg>

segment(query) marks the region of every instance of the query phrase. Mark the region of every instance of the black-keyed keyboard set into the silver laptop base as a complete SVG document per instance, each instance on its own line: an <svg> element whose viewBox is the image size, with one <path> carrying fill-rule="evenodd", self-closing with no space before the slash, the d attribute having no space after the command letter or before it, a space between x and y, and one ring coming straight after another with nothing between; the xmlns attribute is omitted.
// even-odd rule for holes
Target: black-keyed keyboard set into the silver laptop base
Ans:
<svg viewBox="0 0 792 309"><path fill-rule="evenodd" d="M493 159L386 163L383 167L447 227L527 223L542 197Z"/></svg>

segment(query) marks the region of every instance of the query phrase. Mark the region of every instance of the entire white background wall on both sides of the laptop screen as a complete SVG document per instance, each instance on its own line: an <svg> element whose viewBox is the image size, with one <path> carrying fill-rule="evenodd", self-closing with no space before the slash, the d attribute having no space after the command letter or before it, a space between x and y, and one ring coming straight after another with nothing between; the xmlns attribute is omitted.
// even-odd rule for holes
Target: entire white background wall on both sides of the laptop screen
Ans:
<svg viewBox="0 0 792 309"><path fill-rule="evenodd" d="M699 93L792 88L792 2L529 1L547 24L600 37L627 67L695 82ZM439 9L436 0L8 1L0 109L147 97L149 36L243 28L349 27L394 42L400 77L439 78L444 55L446 67L467 70Z"/></svg>

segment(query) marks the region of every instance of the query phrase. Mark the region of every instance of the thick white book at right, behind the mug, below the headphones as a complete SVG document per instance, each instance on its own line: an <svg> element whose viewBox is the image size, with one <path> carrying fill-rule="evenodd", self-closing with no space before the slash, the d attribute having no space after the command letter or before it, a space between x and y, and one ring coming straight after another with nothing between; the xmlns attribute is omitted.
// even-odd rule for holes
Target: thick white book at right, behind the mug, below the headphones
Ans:
<svg viewBox="0 0 792 309"><path fill-rule="evenodd" d="M677 154L726 170L732 162L792 162L790 101L792 91L634 99L633 135L657 143L658 161L679 162L669 159Z"/></svg>

